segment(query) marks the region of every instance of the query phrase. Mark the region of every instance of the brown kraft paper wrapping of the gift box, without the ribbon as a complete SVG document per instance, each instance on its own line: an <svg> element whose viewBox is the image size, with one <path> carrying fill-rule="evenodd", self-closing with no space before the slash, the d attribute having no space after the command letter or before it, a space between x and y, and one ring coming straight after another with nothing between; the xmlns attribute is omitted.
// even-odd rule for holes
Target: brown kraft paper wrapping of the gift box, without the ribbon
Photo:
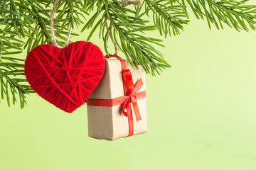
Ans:
<svg viewBox="0 0 256 170"><path fill-rule="evenodd" d="M132 67L129 62L127 69L132 72L134 84L142 78L144 82L139 91L146 90L145 72L142 67ZM124 85L122 81L122 67L119 60L107 59L105 62L105 73L97 88L92 91L89 98L112 99L124 96ZM139 113L142 120L137 122L132 109L134 120L134 135L146 132L146 98L137 100ZM122 114L122 105L87 106L88 135L97 139L116 140L127 137L129 134L128 118Z"/></svg>

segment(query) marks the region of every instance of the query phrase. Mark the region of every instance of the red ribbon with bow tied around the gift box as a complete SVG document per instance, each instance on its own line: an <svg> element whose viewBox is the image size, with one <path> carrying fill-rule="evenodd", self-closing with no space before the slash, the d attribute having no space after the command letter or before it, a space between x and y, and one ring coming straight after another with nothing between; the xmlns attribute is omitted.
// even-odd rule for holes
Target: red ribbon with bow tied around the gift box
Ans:
<svg viewBox="0 0 256 170"><path fill-rule="evenodd" d="M87 106L105 106L105 107L112 107L117 106L120 104L123 104L123 114L128 118L128 124L129 124L129 135L132 136L134 132L134 126L133 126L133 118L132 118L132 106L134 109L134 114L136 117L136 120L142 120L141 115L139 113L139 107L137 100L141 98L146 97L146 91L139 90L142 88L143 81L142 79L139 79L137 83L134 86L134 83L132 81L132 73L129 69L126 67L126 63L124 60L122 60L121 57L118 57L117 55L106 55L105 58L110 57L116 57L120 62L122 66L122 79L124 83L124 95L118 98L112 98L112 99L97 99L97 98L87 98ZM131 106L132 103L132 106Z"/></svg>

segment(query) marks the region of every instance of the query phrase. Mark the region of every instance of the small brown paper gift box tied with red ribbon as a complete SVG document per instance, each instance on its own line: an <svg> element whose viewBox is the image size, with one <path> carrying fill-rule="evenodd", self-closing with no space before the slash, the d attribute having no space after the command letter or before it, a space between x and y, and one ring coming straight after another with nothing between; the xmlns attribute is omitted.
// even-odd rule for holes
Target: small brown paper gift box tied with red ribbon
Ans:
<svg viewBox="0 0 256 170"><path fill-rule="evenodd" d="M114 57L107 56L104 76L87 98L88 135L102 140L146 132L145 72Z"/></svg>

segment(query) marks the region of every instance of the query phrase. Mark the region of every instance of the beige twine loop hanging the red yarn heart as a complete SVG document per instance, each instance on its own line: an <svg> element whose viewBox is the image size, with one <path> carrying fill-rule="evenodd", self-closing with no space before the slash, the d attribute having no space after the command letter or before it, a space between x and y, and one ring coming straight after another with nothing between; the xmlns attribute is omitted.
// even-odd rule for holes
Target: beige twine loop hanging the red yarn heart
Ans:
<svg viewBox="0 0 256 170"><path fill-rule="evenodd" d="M50 13L50 33L51 33L51 35L52 35L52 37L53 37L53 44L54 44L56 47L58 47L58 43L57 43L57 40L56 40L56 38L55 38L53 23L54 23L54 14L55 14L55 11L56 11L55 8L56 8L56 6L57 6L57 4L58 4L59 1L60 1L60 0L56 0L56 1L54 2L54 4L53 4L53 9L52 9L52 11L51 11L51 13ZM69 30L69 32L68 32L68 38L67 38L67 40L66 40L66 42L65 42L64 47L67 47L67 46L68 46L68 42L69 42L69 40L70 40L71 31L72 31L72 24L70 24L70 30Z"/></svg>

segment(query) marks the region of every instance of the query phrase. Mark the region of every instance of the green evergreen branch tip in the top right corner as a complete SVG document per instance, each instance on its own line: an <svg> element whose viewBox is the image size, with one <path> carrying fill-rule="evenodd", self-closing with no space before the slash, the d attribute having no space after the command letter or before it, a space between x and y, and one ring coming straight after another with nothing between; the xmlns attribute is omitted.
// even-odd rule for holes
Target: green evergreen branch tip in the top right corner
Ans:
<svg viewBox="0 0 256 170"><path fill-rule="evenodd" d="M235 28L235 30L255 30L256 6L247 5L248 0L243 1L213 1L213 0L186 0L191 6L195 16L206 17L208 26L214 23L216 28L223 29L223 23Z"/></svg>

